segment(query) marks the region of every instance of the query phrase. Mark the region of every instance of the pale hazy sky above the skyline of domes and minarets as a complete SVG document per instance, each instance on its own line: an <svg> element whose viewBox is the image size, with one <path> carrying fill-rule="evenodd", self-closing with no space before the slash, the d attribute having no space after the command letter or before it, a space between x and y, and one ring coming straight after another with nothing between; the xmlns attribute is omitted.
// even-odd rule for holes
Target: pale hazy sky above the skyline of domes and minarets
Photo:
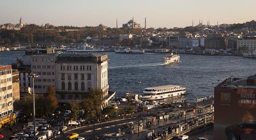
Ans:
<svg viewBox="0 0 256 140"><path fill-rule="evenodd" d="M0 24L118 27L134 16L144 27L186 27L198 24L243 23L256 19L256 0L2 0Z"/></svg>

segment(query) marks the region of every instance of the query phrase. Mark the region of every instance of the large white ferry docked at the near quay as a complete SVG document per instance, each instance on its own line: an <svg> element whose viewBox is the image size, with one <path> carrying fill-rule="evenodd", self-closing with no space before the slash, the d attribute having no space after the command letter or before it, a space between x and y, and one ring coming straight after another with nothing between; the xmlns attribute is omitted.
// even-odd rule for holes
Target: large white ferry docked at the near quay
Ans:
<svg viewBox="0 0 256 140"><path fill-rule="evenodd" d="M186 94L186 87L180 85L164 85L145 88L142 100L159 100Z"/></svg>

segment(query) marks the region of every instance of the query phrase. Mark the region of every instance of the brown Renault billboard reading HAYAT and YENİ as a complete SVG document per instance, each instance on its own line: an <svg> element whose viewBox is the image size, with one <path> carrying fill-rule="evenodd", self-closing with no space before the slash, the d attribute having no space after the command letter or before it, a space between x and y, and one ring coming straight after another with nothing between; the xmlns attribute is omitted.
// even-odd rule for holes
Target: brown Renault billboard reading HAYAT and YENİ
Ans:
<svg viewBox="0 0 256 140"><path fill-rule="evenodd" d="M214 139L256 140L256 88L215 87L214 107Z"/></svg>

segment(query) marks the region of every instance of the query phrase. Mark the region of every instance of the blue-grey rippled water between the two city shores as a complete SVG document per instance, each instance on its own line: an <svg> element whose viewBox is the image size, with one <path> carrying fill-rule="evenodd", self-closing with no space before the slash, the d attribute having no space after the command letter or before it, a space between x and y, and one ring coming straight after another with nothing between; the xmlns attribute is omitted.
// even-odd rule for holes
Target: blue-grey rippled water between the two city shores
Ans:
<svg viewBox="0 0 256 140"><path fill-rule="evenodd" d="M23 54L24 51L0 52L0 63L14 63ZM162 58L166 54L106 54L110 58L109 88L119 97L127 92L139 93L140 81L141 93L144 88L152 86L186 86L186 99L193 101L195 97L214 94L214 86L225 78L256 74L256 59L252 58L181 54L179 63L163 65Z"/></svg>

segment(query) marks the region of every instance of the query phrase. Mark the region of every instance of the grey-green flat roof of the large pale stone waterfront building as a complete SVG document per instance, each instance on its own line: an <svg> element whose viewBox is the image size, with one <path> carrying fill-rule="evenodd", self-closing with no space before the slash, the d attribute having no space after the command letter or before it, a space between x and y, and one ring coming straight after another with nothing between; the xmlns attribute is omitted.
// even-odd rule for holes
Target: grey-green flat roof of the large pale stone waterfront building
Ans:
<svg viewBox="0 0 256 140"><path fill-rule="evenodd" d="M104 54L88 53L88 52L61 52L56 57L99 57Z"/></svg>

